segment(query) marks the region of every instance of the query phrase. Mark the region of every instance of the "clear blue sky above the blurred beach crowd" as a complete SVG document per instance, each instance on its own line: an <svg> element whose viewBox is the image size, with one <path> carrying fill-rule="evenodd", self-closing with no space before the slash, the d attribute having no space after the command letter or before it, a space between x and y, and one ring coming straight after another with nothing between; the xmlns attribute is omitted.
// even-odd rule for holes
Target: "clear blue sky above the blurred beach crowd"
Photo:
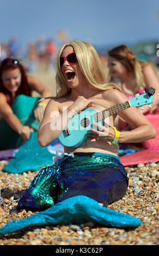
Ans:
<svg viewBox="0 0 159 256"><path fill-rule="evenodd" d="M16 35L22 47L60 30L96 46L159 42L158 0L1 0L0 8L0 42Z"/></svg>

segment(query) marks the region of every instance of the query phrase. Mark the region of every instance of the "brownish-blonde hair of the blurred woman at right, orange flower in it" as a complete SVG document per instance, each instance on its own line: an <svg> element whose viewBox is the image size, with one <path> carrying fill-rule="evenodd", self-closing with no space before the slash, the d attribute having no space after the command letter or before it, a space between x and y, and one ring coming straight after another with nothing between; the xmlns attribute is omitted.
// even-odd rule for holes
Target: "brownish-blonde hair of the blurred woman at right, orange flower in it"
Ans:
<svg viewBox="0 0 159 256"><path fill-rule="evenodd" d="M126 66L128 72L133 72L134 77L136 78L136 92L140 87L145 87L145 81L143 77L143 69L150 65L148 62L139 61L127 45L119 45L112 50L108 51L108 55L117 59L121 64ZM109 74L111 77L111 72Z"/></svg>

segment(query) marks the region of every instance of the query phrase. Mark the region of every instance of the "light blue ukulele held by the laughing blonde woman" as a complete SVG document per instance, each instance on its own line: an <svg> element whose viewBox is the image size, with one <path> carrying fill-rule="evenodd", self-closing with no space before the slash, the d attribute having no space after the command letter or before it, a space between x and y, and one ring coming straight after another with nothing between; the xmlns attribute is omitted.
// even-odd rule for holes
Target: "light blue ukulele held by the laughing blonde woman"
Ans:
<svg viewBox="0 0 159 256"><path fill-rule="evenodd" d="M65 130L59 136L60 142L66 147L80 147L88 138L88 134L92 133L89 129L93 127L93 123L103 125L105 118L115 115L129 107L139 107L148 104L151 107L150 103L154 101L154 96L152 96L154 93L155 89L151 87L148 93L142 95L136 94L132 100L109 107L103 111L97 112L93 108L85 109L80 114L74 115L69 121L68 126L66 126ZM143 109L143 107L141 108Z"/></svg>

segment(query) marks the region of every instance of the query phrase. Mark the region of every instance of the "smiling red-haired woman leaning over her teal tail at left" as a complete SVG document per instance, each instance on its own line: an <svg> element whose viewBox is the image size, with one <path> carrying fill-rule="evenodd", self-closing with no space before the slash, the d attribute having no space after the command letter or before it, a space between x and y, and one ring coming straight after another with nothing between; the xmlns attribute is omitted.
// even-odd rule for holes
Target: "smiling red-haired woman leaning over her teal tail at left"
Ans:
<svg viewBox="0 0 159 256"><path fill-rule="evenodd" d="M30 131L37 131L48 100L36 105L39 97L32 97L32 91L42 97L51 96L51 91L14 58L6 58L0 65L0 150L18 148L30 137Z"/></svg>

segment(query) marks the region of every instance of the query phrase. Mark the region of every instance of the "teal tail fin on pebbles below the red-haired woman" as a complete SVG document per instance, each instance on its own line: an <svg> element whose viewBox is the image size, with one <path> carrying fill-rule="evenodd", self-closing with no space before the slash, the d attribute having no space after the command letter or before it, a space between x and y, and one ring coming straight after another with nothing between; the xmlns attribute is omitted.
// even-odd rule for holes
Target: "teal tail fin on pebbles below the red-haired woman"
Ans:
<svg viewBox="0 0 159 256"><path fill-rule="evenodd" d="M39 146L37 132L31 132L30 138L20 147L15 158L11 159L3 170L8 173L40 170L41 167L53 164L52 156L53 154L48 151L47 147Z"/></svg>

